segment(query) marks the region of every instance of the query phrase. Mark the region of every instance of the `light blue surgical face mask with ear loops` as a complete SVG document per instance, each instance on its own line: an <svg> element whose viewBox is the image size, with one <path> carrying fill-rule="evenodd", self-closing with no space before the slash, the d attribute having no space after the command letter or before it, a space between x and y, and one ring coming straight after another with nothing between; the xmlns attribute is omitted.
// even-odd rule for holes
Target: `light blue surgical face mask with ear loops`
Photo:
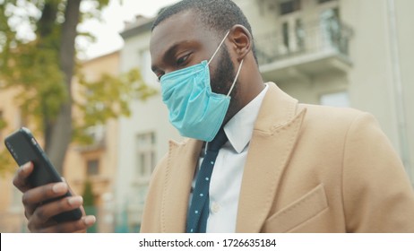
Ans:
<svg viewBox="0 0 414 251"><path fill-rule="evenodd" d="M228 35L229 32L209 62L203 61L161 77L162 100L168 107L169 121L182 136L211 142L219 132L229 109L229 95L243 65L241 61L227 95L211 91L209 65Z"/></svg>

